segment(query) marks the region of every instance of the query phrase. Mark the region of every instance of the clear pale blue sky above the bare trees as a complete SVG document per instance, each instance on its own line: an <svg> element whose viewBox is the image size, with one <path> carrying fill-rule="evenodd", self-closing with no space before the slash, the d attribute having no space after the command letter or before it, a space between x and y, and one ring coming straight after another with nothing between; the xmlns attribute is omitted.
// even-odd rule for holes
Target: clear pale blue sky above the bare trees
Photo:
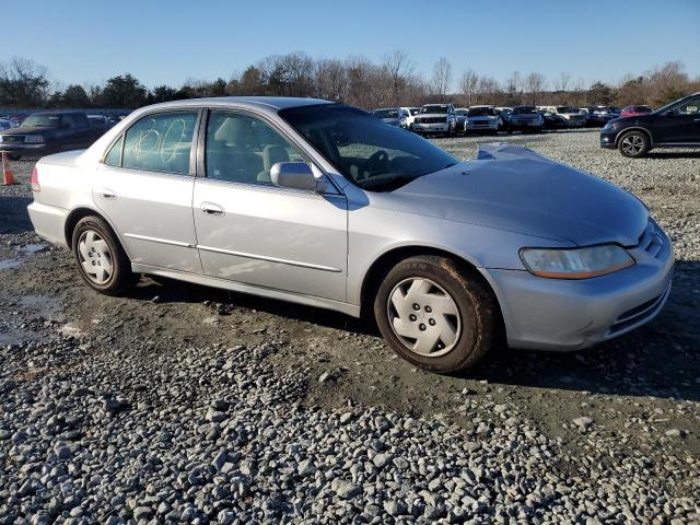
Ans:
<svg viewBox="0 0 700 525"><path fill-rule="evenodd" d="M268 55L378 62L395 49L425 77L445 57L453 89L466 68L499 81L539 71L548 88L562 71L588 86L668 60L700 75L700 0L27 0L2 12L0 61L32 59L63 84L128 72L178 88L228 80Z"/></svg>

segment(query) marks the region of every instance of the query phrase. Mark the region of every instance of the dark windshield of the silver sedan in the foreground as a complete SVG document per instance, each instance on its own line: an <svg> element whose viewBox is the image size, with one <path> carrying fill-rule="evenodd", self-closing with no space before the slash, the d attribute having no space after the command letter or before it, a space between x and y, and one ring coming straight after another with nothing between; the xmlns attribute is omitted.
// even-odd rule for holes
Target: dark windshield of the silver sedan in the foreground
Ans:
<svg viewBox="0 0 700 525"><path fill-rule="evenodd" d="M457 159L410 131L386 126L370 114L340 104L282 109L296 129L349 180L386 191L457 164Z"/></svg>

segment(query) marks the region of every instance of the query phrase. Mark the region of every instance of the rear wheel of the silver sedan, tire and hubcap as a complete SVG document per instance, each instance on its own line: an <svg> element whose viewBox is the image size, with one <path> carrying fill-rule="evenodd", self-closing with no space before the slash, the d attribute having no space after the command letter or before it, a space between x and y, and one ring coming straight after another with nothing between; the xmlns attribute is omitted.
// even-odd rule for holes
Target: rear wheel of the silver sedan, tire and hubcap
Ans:
<svg viewBox="0 0 700 525"><path fill-rule="evenodd" d="M101 217L88 215L78 221L72 249L80 277L96 292L118 295L138 281L121 244Z"/></svg>

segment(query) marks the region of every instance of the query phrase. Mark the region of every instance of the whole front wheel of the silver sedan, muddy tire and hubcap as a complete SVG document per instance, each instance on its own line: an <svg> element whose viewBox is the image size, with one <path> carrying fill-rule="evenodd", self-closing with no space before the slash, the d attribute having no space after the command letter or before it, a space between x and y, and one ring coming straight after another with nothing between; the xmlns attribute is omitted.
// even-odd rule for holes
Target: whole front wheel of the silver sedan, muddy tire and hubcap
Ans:
<svg viewBox="0 0 700 525"><path fill-rule="evenodd" d="M439 256L410 257L392 268L374 299L374 317L398 355L441 374L482 359L494 345L500 318L480 276Z"/></svg>

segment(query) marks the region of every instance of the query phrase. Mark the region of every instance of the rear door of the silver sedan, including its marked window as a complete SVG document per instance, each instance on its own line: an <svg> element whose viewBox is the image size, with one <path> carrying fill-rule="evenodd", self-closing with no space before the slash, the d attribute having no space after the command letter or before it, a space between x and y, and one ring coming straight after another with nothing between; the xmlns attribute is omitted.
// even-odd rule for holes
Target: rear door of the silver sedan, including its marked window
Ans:
<svg viewBox="0 0 700 525"><path fill-rule="evenodd" d="M199 113L143 116L115 139L96 168L93 200L132 262L202 272L191 209Z"/></svg>

